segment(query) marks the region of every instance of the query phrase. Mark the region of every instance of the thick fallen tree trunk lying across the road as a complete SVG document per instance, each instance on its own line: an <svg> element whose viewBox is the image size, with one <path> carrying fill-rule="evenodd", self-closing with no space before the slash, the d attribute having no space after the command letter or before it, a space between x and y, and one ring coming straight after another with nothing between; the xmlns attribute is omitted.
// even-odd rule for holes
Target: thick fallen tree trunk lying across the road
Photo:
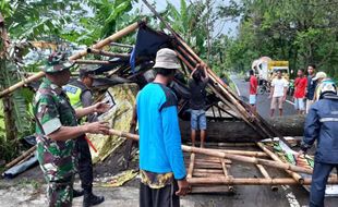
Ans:
<svg viewBox="0 0 338 207"><path fill-rule="evenodd" d="M283 136L302 136L305 115L277 117L266 120L270 126ZM180 123L182 138L190 141L190 122ZM267 136L264 138L268 138ZM243 121L208 122L207 142L257 142L259 134Z"/></svg>

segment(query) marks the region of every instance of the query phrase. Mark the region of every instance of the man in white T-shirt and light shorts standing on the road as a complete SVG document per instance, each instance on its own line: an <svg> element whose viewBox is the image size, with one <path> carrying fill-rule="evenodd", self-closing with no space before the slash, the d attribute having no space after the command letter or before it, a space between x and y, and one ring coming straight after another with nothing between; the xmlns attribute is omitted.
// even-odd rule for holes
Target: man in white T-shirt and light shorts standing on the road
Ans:
<svg viewBox="0 0 338 207"><path fill-rule="evenodd" d="M277 77L271 82L271 99L270 117L274 117L275 110L279 109L279 115L282 115L282 104L287 100L288 81L282 77L281 71L277 71Z"/></svg>

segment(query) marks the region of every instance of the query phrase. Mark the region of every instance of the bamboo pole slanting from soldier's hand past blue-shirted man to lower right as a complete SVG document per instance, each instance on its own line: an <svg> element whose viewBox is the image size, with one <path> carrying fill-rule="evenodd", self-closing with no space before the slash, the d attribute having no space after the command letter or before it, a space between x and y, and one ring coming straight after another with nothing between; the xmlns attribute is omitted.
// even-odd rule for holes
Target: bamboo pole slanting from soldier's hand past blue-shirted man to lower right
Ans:
<svg viewBox="0 0 338 207"><path fill-rule="evenodd" d="M121 131L117 131L113 129L110 130L110 134L138 141L138 135L136 135L136 134L121 132ZM311 169L293 166L290 163L285 163L285 162L281 163L278 161L245 157L245 156L240 156L240 155L231 155L231 154L226 154L222 151L216 151L213 149L190 147L190 146L185 146L185 145L182 145L181 147L182 147L182 150L186 151L186 153L203 154L203 155L208 155L208 156L218 157L218 158L232 159L232 160L237 160L237 161L241 161L241 162L248 162L248 163L254 163L254 165L258 163L258 165L269 166L269 167L278 168L278 169L282 169L282 170L292 170L295 172L303 172L303 173L312 174Z"/></svg>

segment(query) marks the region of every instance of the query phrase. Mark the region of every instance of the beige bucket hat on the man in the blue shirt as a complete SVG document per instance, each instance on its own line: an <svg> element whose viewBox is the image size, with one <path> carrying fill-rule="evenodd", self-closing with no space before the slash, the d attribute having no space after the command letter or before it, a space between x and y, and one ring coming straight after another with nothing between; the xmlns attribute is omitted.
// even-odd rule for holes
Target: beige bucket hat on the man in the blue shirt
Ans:
<svg viewBox="0 0 338 207"><path fill-rule="evenodd" d="M154 69L180 69L179 59L176 52L169 48L157 51Z"/></svg>

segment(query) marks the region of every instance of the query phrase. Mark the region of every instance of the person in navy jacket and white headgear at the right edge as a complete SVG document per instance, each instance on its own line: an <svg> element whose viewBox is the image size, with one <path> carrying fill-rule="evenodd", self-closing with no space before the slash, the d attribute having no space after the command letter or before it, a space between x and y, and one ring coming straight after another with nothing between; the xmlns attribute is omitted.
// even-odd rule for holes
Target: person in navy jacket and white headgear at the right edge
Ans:
<svg viewBox="0 0 338 207"><path fill-rule="evenodd" d="M338 173L338 96L334 82L324 82L319 100L311 107L305 121L299 157L317 141L312 174L310 207L324 207L327 179L334 168Z"/></svg>

